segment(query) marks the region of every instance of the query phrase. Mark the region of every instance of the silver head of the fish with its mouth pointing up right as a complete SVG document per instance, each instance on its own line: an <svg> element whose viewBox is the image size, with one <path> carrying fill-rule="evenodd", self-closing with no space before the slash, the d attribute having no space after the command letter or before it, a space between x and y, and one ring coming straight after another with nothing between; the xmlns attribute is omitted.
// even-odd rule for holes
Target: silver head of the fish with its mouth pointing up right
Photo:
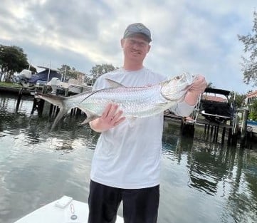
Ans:
<svg viewBox="0 0 257 223"><path fill-rule="evenodd" d="M182 73L168 81L164 81L161 87L161 94L167 100L180 100L192 85L195 76L189 73Z"/></svg>

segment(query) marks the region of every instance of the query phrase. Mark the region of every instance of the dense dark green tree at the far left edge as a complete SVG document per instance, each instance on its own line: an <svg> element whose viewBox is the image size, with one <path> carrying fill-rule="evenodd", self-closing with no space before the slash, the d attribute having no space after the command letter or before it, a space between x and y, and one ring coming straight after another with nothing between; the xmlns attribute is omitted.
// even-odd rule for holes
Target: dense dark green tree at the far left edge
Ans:
<svg viewBox="0 0 257 223"><path fill-rule="evenodd" d="M19 46L0 45L0 81L10 81L15 72L28 68L28 60L23 49Z"/></svg>

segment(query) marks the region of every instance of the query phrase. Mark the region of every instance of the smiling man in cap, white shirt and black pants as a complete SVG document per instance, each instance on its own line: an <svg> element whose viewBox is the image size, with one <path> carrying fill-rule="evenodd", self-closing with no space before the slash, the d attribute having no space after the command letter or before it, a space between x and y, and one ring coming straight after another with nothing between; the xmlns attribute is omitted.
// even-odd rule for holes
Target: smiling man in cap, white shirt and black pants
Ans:
<svg viewBox="0 0 257 223"><path fill-rule="evenodd" d="M123 67L100 76L94 90L109 87L105 78L128 87L164 81L164 76L143 66L151 41L150 30L143 24L127 26L120 41ZM206 81L199 76L174 112L182 116L192 113L205 88ZM157 222L163 114L125 120L122 110L109 104L90 127L101 135L92 162L88 222L115 222L121 201L125 223Z"/></svg>

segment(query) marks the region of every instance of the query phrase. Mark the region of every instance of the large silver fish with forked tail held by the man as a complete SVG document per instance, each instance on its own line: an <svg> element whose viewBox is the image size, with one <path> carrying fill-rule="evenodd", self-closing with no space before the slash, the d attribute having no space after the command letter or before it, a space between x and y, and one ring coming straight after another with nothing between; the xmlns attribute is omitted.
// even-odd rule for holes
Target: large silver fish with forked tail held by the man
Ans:
<svg viewBox="0 0 257 223"><path fill-rule="evenodd" d="M126 118L142 118L163 113L184 99L184 95L192 85L195 76L183 73L168 81L145 87L128 88L120 83L106 79L110 88L90 90L70 97L46 95L38 93L36 98L57 105L60 111L52 125L57 123L71 108L80 108L86 113L88 123L102 115L108 103L119 105Z"/></svg>

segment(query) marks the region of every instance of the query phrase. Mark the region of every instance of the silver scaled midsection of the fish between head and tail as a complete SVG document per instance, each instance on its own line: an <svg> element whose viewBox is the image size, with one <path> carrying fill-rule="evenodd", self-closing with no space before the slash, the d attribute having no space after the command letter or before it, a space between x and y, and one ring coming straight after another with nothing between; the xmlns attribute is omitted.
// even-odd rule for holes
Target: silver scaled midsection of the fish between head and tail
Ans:
<svg viewBox="0 0 257 223"><path fill-rule="evenodd" d="M116 103L127 117L146 117L161 113L162 106L167 106L167 100L159 93L160 85L142 88L107 88L90 95L78 105L78 108L100 116L108 103Z"/></svg>

